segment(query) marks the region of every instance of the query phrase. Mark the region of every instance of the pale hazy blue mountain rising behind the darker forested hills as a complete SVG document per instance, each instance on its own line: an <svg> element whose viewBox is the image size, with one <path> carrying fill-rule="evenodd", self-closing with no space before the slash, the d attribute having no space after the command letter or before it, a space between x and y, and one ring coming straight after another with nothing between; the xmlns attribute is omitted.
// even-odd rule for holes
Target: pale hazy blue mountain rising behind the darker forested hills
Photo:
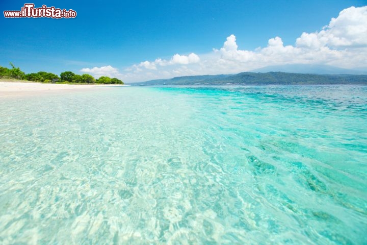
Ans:
<svg viewBox="0 0 367 245"><path fill-rule="evenodd" d="M353 74L353 75L367 75L367 68L361 70L344 69L331 65L312 65L312 64L287 64L287 65L273 65L266 66L259 69L251 70L252 72L292 72L305 74Z"/></svg>

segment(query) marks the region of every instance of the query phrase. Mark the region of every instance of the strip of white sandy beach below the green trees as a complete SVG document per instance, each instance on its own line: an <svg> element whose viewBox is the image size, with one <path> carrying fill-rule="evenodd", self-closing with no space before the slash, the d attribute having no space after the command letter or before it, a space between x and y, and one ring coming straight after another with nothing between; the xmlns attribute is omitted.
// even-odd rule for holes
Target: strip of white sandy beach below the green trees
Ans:
<svg viewBox="0 0 367 245"><path fill-rule="evenodd" d="M50 84L50 83L27 83L27 82L0 82L0 96L12 96L22 94L40 94L48 91L60 90L81 90L97 87L126 86L121 84Z"/></svg>

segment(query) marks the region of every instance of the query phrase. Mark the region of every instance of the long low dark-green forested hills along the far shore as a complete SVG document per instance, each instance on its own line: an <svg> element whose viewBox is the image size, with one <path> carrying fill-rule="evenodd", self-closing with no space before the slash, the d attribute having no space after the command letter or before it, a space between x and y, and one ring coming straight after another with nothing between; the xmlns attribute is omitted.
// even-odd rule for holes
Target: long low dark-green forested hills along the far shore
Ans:
<svg viewBox="0 0 367 245"><path fill-rule="evenodd" d="M241 72L235 75L205 75L151 80L131 85L193 84L367 84L367 75L318 75L289 72Z"/></svg>

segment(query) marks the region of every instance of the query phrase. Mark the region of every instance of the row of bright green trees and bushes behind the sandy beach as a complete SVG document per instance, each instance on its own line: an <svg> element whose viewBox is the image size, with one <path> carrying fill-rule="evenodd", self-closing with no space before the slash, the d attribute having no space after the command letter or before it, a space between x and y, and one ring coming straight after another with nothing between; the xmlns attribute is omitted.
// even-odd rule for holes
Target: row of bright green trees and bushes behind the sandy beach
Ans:
<svg viewBox="0 0 367 245"><path fill-rule="evenodd" d="M0 66L0 78L13 78L42 83L101 83L101 84L123 84L117 78L100 77L93 78L89 74L77 75L72 71L61 72L60 77L51 72L39 71L37 73L25 74L19 67L15 67L11 62L11 69Z"/></svg>

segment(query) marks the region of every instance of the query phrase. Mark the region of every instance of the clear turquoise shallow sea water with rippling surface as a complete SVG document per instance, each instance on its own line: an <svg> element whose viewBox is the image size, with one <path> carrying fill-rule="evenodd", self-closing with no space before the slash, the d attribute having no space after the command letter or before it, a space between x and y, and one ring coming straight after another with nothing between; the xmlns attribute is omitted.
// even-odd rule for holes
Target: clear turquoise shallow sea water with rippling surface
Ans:
<svg viewBox="0 0 367 245"><path fill-rule="evenodd" d="M0 98L0 243L367 243L367 87Z"/></svg>

